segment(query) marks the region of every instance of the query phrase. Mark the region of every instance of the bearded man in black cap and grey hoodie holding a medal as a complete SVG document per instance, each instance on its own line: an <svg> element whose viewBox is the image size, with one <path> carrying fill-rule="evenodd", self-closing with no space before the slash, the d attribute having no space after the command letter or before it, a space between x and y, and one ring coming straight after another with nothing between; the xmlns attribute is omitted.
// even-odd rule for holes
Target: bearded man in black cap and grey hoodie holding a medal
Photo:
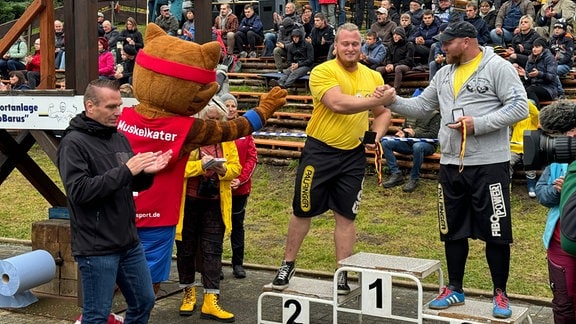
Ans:
<svg viewBox="0 0 576 324"><path fill-rule="evenodd" d="M512 315L506 284L510 268L509 126L528 116L526 91L511 64L481 47L474 26L452 23L438 36L447 66L414 98L389 108L422 117L440 107L438 222L449 282L429 307L464 303L468 238L486 242L494 285L493 316ZM386 86L382 86L384 90Z"/></svg>

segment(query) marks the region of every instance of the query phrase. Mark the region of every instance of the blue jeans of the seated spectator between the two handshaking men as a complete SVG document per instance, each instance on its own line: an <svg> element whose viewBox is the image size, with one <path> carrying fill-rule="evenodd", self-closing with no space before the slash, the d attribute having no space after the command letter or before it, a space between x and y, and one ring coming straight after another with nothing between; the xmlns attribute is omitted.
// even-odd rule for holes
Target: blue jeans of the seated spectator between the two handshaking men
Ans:
<svg viewBox="0 0 576 324"><path fill-rule="evenodd" d="M394 152L412 154L412 169L410 170L410 179L412 180L420 178L420 167L424 161L424 156L436 152L436 147L426 142L413 142L412 144L412 142L382 140L382 149L391 174L400 173Z"/></svg>

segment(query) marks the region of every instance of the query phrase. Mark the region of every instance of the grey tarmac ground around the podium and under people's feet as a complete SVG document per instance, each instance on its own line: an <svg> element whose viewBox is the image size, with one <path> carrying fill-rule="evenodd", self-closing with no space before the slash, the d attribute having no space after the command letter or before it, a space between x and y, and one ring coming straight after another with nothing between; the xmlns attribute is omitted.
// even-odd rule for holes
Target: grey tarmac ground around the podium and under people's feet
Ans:
<svg viewBox="0 0 576 324"><path fill-rule="evenodd" d="M21 244L4 244L0 243L0 259L6 259L12 256L20 255L31 250L30 246ZM235 279L232 276L232 268L229 265L224 266L223 271L225 279L221 282L220 305L227 311L234 313L235 323L257 323L258 322L258 298L263 291L263 287L269 284L274 278L273 269L261 267L258 265L245 265L247 277L244 279ZM199 300L194 313L189 317L179 316L178 309L181 302L181 290L178 287L177 273L175 263L170 280L162 284L159 297L152 311L151 324L172 324L172 323L215 323L213 320L200 318L200 309L202 306L202 296L199 294ZM314 279L331 282L332 277L327 274L312 273L300 271L297 269L296 276L314 277ZM201 287L197 288L201 293ZM425 289L424 300L429 301L436 295L434 289ZM489 301L486 294L467 293L467 300ZM58 296L36 294L38 302L25 308L0 308L0 323L10 324L32 324L32 323L73 323L81 314L81 308L77 305L76 298L64 298ZM417 293L414 287L402 283L394 283L392 289L393 314L400 316L416 317L417 314ZM513 306L523 306L528 308L528 313L534 324L551 324L553 323L552 309L549 301L530 296L510 296ZM282 323L283 312L293 312L286 301L276 296L267 296L262 298L262 319L267 321L276 321ZM352 298L349 302L350 307L358 307L359 298ZM123 315L125 305L121 295L115 297L113 312ZM320 303L310 303L309 306L309 323L332 323L333 308L332 306ZM495 319L494 319L495 320ZM405 323L395 319L383 319L380 317L363 315L361 318L358 314L338 313L338 323ZM425 323L440 323L437 321L425 320ZM525 321L527 322L527 321ZM488 322L487 322L488 323ZM505 321L492 321L491 323L506 323Z"/></svg>

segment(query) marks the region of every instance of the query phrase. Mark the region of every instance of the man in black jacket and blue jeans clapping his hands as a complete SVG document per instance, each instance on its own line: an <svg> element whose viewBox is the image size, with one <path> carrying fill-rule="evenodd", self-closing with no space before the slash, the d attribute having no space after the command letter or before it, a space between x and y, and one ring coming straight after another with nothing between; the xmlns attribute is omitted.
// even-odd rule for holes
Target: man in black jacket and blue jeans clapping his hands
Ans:
<svg viewBox="0 0 576 324"><path fill-rule="evenodd" d="M166 167L172 151L134 155L116 131L121 105L117 82L90 82L85 111L70 121L58 147L86 323L106 323L116 284L128 304L126 322L147 323L155 300L132 195L152 185L153 174Z"/></svg>

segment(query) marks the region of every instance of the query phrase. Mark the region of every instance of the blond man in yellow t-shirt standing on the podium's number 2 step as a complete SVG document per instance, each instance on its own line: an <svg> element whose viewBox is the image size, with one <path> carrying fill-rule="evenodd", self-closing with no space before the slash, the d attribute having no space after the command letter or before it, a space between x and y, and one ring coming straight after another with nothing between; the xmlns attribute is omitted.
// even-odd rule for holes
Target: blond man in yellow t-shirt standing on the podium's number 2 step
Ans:
<svg viewBox="0 0 576 324"><path fill-rule="evenodd" d="M350 23L340 26L334 44L336 58L318 65L310 74L314 110L296 175L284 260L272 282L277 290L288 287L298 250L314 216L332 210L336 260L352 254L354 219L366 165L361 138L369 127L368 111L374 116L372 131L376 133L375 139L365 143L368 148L374 148L386 133L391 118L385 106L394 100L395 90L384 86L378 72L358 64L362 44L358 27ZM341 272L338 293L348 292L346 273Z"/></svg>

